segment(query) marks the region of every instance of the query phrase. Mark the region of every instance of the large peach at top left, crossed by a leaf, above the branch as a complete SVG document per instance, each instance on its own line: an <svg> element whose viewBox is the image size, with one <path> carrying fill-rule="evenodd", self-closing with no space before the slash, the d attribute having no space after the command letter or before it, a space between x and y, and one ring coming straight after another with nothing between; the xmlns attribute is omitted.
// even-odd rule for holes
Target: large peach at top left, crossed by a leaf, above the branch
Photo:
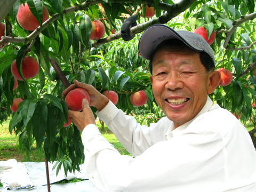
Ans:
<svg viewBox="0 0 256 192"><path fill-rule="evenodd" d="M34 8L34 7L33 7ZM39 22L36 17L30 11L27 3L24 5L21 4L17 13L17 21L19 25L26 30L35 30L39 27ZM49 18L49 12L46 7L43 5L43 22Z"/></svg>

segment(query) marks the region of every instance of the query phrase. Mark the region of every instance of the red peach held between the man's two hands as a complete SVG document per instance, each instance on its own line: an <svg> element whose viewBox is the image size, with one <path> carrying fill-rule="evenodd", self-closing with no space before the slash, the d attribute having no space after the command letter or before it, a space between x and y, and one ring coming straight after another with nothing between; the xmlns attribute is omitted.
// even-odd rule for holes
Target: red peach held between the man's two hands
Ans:
<svg viewBox="0 0 256 192"><path fill-rule="evenodd" d="M81 111L83 109L82 107L82 101L83 99L89 99L87 98L87 95L83 90L80 89L74 89L68 92L66 95L65 101L67 103L67 106L69 109L74 111Z"/></svg>

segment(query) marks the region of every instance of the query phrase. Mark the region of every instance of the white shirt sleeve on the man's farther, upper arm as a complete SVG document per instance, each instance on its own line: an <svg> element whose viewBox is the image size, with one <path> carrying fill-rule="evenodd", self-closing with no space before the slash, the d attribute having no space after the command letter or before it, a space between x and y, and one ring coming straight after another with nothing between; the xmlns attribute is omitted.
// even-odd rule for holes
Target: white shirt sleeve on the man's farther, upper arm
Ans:
<svg viewBox="0 0 256 192"><path fill-rule="evenodd" d="M133 156L138 156L155 143L166 140L165 133L171 124L169 119L162 118L158 123L151 123L149 127L140 125L112 102L98 111L97 115Z"/></svg>

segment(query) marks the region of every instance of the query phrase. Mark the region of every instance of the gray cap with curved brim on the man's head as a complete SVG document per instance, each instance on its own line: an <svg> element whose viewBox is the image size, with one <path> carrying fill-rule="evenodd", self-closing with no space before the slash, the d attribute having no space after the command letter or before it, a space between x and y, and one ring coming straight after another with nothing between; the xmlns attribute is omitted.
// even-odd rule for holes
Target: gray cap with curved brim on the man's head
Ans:
<svg viewBox="0 0 256 192"><path fill-rule="evenodd" d="M139 41L140 55L150 60L156 46L166 39L180 39L191 49L206 52L215 65L213 50L201 35L185 30L175 31L165 25L153 25L144 31Z"/></svg>

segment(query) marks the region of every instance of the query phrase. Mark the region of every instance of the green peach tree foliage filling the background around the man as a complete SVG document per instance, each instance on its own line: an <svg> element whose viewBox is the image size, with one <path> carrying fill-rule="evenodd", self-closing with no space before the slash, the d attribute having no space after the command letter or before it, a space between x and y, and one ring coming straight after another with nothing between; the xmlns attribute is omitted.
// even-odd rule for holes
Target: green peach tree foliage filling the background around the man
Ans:
<svg viewBox="0 0 256 192"><path fill-rule="evenodd" d="M141 33L157 23L189 31L202 26L209 37L213 31L216 33L211 44L216 68L230 70L233 80L228 86L218 86L210 97L232 113L242 114L242 122L256 124L255 106L252 107L256 95L254 0L10 2L13 6L4 6L9 12L0 18L5 24L5 35L0 40L0 123L11 117L10 132L18 134L21 143L30 149L35 140L37 148L44 149L46 158L59 160L58 167L63 165L66 171L79 169L84 161L79 131L73 124L63 127L68 121L68 108L61 93L75 79L92 84L102 93L115 91L119 98L116 106L127 114L140 113L141 118L137 118L140 122L149 124L163 116L151 91L148 61L140 57L137 48ZM16 19L20 4L25 2L34 7L31 11L39 22L34 31L23 29ZM50 15L44 23L43 5ZM154 17L145 17L146 5L155 7ZM133 14L138 19L130 35L136 35L124 41L122 24ZM105 26L102 39L90 39L93 20L100 20ZM18 88L13 90L11 63L16 60L22 74L21 62L26 56L38 61L39 73L18 81ZM147 93L147 103L134 107L130 95L140 90ZM15 98L24 101L13 113L9 106Z"/></svg>

